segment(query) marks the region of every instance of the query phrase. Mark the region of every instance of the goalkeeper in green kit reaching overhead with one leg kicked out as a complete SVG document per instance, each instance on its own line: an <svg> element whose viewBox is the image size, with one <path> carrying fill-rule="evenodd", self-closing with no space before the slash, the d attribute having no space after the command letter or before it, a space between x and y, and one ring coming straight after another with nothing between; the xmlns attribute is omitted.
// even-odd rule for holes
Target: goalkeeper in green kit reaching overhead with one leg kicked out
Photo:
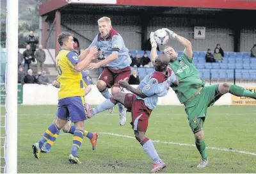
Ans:
<svg viewBox="0 0 256 174"><path fill-rule="evenodd" d="M207 113L207 107L212 106L216 100L220 99L225 93L232 93L238 97L250 97L256 99L256 93L246 90L234 84L222 83L205 86L205 81L200 79L198 70L193 66L193 51L191 42L186 38L177 35L167 28L163 28L171 39L176 39L184 45L184 53L178 58L177 52L173 47L166 46L164 54L170 58L170 67L179 80L179 86L172 84L180 103L184 104L185 111L188 115L189 126L195 136L196 148L202 156L202 161L197 168L205 168L209 163L206 154L206 145L204 141L204 122ZM154 40L154 32L150 34L152 45L151 59L157 56L157 43Z"/></svg>

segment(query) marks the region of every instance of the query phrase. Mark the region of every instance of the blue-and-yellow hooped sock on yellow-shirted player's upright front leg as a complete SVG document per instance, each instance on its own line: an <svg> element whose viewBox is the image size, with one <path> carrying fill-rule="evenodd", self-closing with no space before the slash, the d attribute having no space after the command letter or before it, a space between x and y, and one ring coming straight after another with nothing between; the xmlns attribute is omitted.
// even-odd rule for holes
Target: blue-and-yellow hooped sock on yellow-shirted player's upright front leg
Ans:
<svg viewBox="0 0 256 174"><path fill-rule="evenodd" d="M71 154L74 157L77 157L77 150L82 145L83 138L84 138L84 130L76 129L73 136L73 145L71 150Z"/></svg>

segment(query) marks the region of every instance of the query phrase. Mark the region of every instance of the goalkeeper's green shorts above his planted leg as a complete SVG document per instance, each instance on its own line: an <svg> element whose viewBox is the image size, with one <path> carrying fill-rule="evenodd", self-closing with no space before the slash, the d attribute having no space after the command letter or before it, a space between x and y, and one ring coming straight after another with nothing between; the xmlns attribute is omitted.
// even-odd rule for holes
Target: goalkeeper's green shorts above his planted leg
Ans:
<svg viewBox="0 0 256 174"><path fill-rule="evenodd" d="M205 86L202 91L194 99L184 102L185 111L188 115L189 125L194 132L200 118L205 120L207 107L212 106L214 102L220 99L221 93L218 91L218 84ZM202 128L204 125L200 125Z"/></svg>

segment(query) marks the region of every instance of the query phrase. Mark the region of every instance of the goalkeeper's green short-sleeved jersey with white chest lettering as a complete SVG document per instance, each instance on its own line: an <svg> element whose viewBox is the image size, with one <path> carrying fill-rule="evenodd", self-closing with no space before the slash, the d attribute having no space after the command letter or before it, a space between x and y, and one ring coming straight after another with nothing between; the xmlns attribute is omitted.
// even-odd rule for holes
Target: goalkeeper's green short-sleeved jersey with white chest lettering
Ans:
<svg viewBox="0 0 256 174"><path fill-rule="evenodd" d="M205 81L200 79L198 70L193 66L193 59L189 59L183 54L178 61L170 63L170 67L179 80L179 86L172 84L171 87L175 91L181 103L191 99Z"/></svg>

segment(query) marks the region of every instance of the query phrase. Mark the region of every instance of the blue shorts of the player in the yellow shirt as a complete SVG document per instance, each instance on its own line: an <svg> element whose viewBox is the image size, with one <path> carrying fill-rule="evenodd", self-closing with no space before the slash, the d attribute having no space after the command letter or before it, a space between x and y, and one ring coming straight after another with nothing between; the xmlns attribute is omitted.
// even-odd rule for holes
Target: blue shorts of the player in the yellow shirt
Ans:
<svg viewBox="0 0 256 174"><path fill-rule="evenodd" d="M56 115L62 120L70 119L73 123L84 121L86 120L84 103L84 97L77 96L60 99Z"/></svg>

